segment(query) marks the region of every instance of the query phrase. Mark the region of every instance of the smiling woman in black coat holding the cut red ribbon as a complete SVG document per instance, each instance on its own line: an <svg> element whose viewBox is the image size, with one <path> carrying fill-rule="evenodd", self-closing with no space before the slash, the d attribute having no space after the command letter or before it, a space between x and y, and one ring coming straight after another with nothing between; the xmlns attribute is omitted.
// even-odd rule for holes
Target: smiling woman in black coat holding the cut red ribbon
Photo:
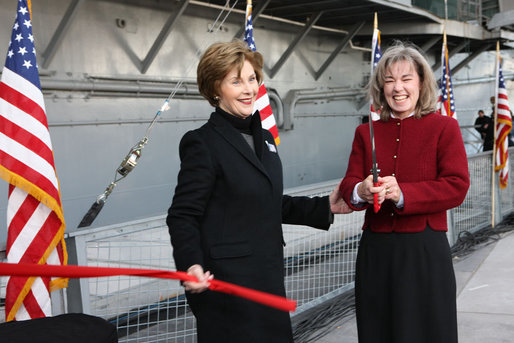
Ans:
<svg viewBox="0 0 514 343"><path fill-rule="evenodd" d="M199 280L184 286L200 343L293 342L288 313L207 290L209 280L285 296L281 223L327 230L332 213L351 212L337 192L283 195L273 136L253 113L262 65L244 42L210 46L197 81L215 111L180 142L167 224L177 269Z"/></svg>

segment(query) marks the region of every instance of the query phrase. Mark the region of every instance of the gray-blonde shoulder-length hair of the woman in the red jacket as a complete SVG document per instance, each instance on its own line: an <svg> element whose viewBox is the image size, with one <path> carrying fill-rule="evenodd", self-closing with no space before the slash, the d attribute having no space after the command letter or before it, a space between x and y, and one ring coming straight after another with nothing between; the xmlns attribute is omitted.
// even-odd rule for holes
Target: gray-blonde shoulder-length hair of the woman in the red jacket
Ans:
<svg viewBox="0 0 514 343"><path fill-rule="evenodd" d="M414 109L414 117L420 118L436 110L437 84L426 58L416 47L395 42L382 55L368 85L369 97L373 101L374 108L380 109L380 119L384 121L391 117L391 108L384 95L385 74L394 63L400 61L409 62L419 76L419 99Z"/></svg>

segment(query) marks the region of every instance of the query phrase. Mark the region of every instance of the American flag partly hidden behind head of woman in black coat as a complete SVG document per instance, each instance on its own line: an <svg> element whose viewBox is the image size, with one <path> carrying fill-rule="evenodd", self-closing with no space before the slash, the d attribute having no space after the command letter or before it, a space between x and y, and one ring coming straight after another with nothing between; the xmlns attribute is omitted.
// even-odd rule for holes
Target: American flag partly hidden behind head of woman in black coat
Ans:
<svg viewBox="0 0 514 343"><path fill-rule="evenodd" d="M255 46L255 40L253 39L251 3L248 3L246 5L246 26L244 40L248 44L248 47L252 49L252 51L257 50ZM278 136L277 123L275 122L275 117L273 116L273 111L271 109L271 105L269 102L268 92L266 91L264 83L260 85L259 92L257 93L254 111L256 110L259 110L259 113L261 115L262 127L271 132L273 138L275 139L275 144L279 145L280 137Z"/></svg>

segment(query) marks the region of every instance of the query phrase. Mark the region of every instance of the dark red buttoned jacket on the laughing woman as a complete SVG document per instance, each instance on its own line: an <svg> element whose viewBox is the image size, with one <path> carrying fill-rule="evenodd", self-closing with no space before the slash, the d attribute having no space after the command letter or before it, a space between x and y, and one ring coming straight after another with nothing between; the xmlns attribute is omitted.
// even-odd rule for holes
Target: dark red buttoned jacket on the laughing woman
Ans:
<svg viewBox="0 0 514 343"><path fill-rule="evenodd" d="M468 161L457 121L435 113L421 119L373 123L381 176L395 176L404 206L386 200L373 206L350 203L355 185L370 174L369 125L357 127L346 175L339 191L354 210L367 209L363 229L374 232L420 232L428 225L447 231L446 210L459 206L469 188Z"/></svg>

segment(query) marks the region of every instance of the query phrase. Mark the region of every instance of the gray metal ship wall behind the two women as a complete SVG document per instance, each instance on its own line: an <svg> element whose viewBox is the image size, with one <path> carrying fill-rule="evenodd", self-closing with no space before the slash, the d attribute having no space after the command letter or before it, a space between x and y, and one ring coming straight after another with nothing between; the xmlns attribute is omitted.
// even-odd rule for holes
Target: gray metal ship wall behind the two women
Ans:
<svg viewBox="0 0 514 343"><path fill-rule="evenodd" d="M40 66L44 64L43 52L71 3L33 1ZM177 7L178 2L170 3ZM0 60L7 52L15 6L15 0L0 0ZM231 40L244 19L243 14L232 13L220 32L209 34L219 10L189 5L155 61L142 74L139 65L170 13L121 2L83 1L53 59L47 68L40 69L68 232L75 230L92 202L111 182L123 157L143 137L148 122L168 91L173 90L173 82L183 80L187 90L179 92L171 109L162 114L137 168L119 183L93 226L159 215L171 202L179 169L178 142L187 130L204 123L211 111L207 102L195 95L198 52L214 41ZM125 20L125 27L117 27L116 19ZM256 22L255 39L266 68L275 65L300 30L288 23L266 19ZM315 29L272 79L265 75L267 87L274 89L286 105L295 98L294 94L298 100L291 109L294 126L280 131L285 187L344 175L359 115L367 113L361 90L369 76L369 54L347 47L318 80L314 78L315 71L343 38L343 33ZM471 69L475 70L475 66ZM514 71L512 66L510 71ZM487 76L490 70L476 67L476 74ZM119 91L96 88L107 83ZM157 84L159 90L130 90L141 84ZM293 90L304 92L300 96ZM484 108L489 96L477 91L476 96L467 97L466 107ZM460 106L459 89L456 97ZM469 120L473 115L470 111ZM461 118L466 115L459 114ZM0 183L0 194L5 194L0 196L0 242L4 242L5 182Z"/></svg>

